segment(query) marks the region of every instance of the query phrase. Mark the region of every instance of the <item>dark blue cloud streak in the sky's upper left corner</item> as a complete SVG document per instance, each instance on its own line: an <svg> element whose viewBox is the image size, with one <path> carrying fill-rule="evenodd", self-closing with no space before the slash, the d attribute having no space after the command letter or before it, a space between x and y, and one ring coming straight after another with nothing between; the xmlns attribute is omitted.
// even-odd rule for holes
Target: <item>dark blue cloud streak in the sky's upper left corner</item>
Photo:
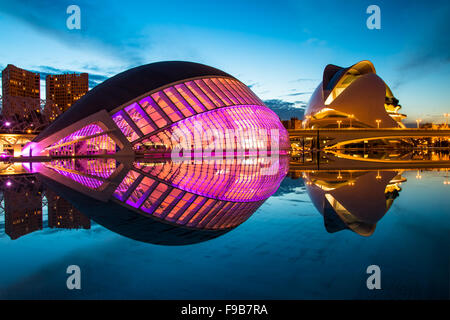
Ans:
<svg viewBox="0 0 450 320"><path fill-rule="evenodd" d="M81 8L81 29L68 30L66 19L69 15L66 9L71 4L73 2L66 0L2 1L0 11L69 47L76 44L76 47L84 50L116 57L127 66L144 64L144 46L149 44L148 39L143 41L141 29L131 32L130 29L136 27L132 23L127 24L132 24L129 28L124 28L125 24L122 22L126 20L126 13L123 10L114 10L112 4L108 6L108 10L104 10L102 6L105 4L78 1L77 5Z"/></svg>

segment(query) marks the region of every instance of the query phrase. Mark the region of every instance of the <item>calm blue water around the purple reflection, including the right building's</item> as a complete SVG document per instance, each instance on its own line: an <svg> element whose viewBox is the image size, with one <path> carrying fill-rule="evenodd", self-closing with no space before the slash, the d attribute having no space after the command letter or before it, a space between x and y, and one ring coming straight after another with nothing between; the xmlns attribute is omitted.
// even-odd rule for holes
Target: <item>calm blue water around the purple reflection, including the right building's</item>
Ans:
<svg viewBox="0 0 450 320"><path fill-rule="evenodd" d="M356 191L337 186L351 179ZM392 181L400 189L389 192ZM46 205L57 190L43 187L42 230L15 240L5 232L11 204L2 201L0 298L448 299L447 181L442 169L291 172L235 229L178 246L135 241L87 217L72 221L79 229L58 227ZM14 187L6 182L4 191ZM66 288L73 264L82 271L81 290ZM366 287L373 264L382 290Z"/></svg>

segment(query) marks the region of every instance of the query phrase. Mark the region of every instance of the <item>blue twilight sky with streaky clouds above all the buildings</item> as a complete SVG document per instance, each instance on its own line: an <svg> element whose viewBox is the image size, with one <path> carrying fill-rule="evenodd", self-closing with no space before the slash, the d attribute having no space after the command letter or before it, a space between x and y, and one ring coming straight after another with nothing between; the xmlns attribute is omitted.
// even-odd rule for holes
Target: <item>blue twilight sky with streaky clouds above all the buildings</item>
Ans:
<svg viewBox="0 0 450 320"><path fill-rule="evenodd" d="M71 4L81 8L81 30L66 27ZM371 4L381 30L366 27ZM300 107L327 64L368 59L410 122L450 112L447 0L0 0L0 30L0 68L89 72L91 86L141 64L187 60Z"/></svg>

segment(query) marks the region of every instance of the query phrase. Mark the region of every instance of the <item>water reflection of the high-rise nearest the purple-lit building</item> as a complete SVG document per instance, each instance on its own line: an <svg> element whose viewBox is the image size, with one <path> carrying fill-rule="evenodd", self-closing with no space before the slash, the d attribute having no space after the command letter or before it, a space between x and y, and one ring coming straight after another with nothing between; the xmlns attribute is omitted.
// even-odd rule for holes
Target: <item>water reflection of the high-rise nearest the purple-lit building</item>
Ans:
<svg viewBox="0 0 450 320"><path fill-rule="evenodd" d="M47 190L48 226L61 229L90 229L91 220L74 208L70 202Z"/></svg>

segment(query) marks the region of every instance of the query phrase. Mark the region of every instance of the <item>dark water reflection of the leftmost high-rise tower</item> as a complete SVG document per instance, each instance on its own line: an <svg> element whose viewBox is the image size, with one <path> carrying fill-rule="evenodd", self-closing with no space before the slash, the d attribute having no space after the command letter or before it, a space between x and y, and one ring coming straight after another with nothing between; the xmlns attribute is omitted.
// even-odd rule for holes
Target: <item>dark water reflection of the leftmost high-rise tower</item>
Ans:
<svg viewBox="0 0 450 320"><path fill-rule="evenodd" d="M17 239L42 230L42 193L32 185L3 191L5 203L5 233Z"/></svg>

